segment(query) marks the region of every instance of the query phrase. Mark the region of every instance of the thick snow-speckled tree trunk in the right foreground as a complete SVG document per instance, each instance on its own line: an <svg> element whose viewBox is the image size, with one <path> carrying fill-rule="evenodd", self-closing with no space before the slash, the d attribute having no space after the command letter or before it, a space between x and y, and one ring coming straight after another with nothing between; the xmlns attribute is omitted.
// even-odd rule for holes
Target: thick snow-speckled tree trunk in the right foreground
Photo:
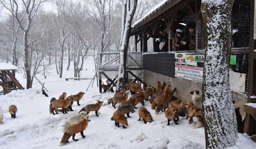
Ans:
<svg viewBox="0 0 256 149"><path fill-rule="evenodd" d="M202 88L206 148L233 146L238 138L229 86L233 2L202 0L207 39Z"/></svg>

